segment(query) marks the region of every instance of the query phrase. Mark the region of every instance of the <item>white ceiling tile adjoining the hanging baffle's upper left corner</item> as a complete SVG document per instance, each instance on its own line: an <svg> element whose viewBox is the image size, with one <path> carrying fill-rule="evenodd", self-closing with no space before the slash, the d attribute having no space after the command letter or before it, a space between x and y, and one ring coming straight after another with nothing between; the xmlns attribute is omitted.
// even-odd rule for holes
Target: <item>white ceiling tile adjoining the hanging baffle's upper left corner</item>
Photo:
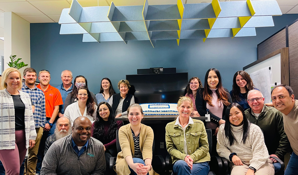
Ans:
<svg viewBox="0 0 298 175"><path fill-rule="evenodd" d="M46 15L61 15L64 8L69 8L70 4L65 0L60 1L31 1L32 5L44 12Z"/></svg>

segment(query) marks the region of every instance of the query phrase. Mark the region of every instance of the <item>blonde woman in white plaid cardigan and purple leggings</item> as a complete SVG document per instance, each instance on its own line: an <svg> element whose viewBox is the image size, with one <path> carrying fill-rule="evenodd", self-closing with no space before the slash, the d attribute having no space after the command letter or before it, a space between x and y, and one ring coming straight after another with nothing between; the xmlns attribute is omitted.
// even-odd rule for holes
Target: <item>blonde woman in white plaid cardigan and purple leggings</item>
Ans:
<svg viewBox="0 0 298 175"><path fill-rule="evenodd" d="M21 73L8 68L2 73L0 90L0 160L7 175L20 173L27 148L35 145L36 131L31 99L21 89Z"/></svg>

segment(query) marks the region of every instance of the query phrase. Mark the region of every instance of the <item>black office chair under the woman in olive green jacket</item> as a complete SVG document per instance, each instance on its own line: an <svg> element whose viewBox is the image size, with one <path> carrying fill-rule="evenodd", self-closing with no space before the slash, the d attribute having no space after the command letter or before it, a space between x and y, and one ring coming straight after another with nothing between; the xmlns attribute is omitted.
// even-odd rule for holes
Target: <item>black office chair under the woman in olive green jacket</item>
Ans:
<svg viewBox="0 0 298 175"><path fill-rule="evenodd" d="M208 138L208 143L209 143L209 154L211 155L211 151L212 151L212 131L211 131L211 129L206 129L206 132L207 132L207 138ZM166 163L166 173L168 175L169 170L173 170L172 158L169 154L166 157L165 163ZM210 166L210 171L209 171L208 175L224 175L223 173L225 171L223 171L223 169L222 169L223 164L222 164L222 160L221 160L220 157L211 156L209 166ZM172 172L171 175L174 175L174 173Z"/></svg>

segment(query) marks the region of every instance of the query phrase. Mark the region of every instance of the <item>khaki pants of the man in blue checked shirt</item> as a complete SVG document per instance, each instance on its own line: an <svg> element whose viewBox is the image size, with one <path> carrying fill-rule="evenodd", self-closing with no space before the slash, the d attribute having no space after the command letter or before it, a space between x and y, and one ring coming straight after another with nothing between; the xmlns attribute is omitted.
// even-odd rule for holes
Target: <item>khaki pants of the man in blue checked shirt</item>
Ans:
<svg viewBox="0 0 298 175"><path fill-rule="evenodd" d="M44 132L44 128L42 128L42 127L35 128L35 130L37 133L37 136L35 139L35 145L32 149L28 150L27 173L26 173L26 168L25 168L25 173L24 173L27 175L35 175L38 147L40 144L42 133Z"/></svg>

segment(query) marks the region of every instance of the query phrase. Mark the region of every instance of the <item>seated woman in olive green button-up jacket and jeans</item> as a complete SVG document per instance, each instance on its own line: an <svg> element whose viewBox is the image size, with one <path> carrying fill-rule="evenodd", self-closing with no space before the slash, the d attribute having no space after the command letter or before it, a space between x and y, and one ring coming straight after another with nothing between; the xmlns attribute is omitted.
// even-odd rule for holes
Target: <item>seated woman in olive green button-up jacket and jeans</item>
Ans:
<svg viewBox="0 0 298 175"><path fill-rule="evenodd" d="M180 97L177 110L177 119L166 126L166 145L174 163L173 172L176 175L207 175L210 154L204 123L190 117L193 101L189 97Z"/></svg>

